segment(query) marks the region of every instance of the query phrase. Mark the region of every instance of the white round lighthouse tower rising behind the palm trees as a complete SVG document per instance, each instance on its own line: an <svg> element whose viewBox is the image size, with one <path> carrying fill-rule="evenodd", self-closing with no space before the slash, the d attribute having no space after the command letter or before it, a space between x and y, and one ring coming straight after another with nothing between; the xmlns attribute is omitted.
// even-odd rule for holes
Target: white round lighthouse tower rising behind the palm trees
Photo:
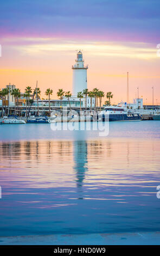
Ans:
<svg viewBox="0 0 160 256"><path fill-rule="evenodd" d="M87 69L88 66L84 65L82 52L76 54L75 64L72 66L73 70L73 84L72 94L76 97L79 92L87 89Z"/></svg>

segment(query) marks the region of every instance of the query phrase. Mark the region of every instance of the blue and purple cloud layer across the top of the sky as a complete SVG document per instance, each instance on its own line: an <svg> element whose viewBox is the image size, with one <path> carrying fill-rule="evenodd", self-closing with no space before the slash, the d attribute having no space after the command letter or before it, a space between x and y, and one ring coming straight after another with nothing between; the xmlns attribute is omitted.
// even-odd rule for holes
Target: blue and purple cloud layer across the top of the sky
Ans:
<svg viewBox="0 0 160 256"><path fill-rule="evenodd" d="M0 33L158 44L158 0L46 0L1 3Z"/></svg>

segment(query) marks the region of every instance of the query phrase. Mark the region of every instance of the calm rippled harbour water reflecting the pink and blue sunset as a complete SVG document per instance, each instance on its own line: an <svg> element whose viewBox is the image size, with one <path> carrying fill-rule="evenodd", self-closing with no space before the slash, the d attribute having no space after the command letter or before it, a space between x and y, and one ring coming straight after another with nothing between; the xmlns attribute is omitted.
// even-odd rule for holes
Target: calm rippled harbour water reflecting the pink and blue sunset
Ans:
<svg viewBox="0 0 160 256"><path fill-rule="evenodd" d="M0 126L0 235L160 231L160 122Z"/></svg>

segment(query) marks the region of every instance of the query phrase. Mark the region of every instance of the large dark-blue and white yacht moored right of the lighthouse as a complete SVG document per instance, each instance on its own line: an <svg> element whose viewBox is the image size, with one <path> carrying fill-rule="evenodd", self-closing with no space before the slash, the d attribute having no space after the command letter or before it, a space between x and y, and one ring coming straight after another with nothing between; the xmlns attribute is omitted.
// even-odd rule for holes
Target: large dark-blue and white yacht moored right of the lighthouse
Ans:
<svg viewBox="0 0 160 256"><path fill-rule="evenodd" d="M107 118L108 117L108 118ZM104 111L98 114L98 121L141 121L139 113L132 113L125 106L106 106Z"/></svg>

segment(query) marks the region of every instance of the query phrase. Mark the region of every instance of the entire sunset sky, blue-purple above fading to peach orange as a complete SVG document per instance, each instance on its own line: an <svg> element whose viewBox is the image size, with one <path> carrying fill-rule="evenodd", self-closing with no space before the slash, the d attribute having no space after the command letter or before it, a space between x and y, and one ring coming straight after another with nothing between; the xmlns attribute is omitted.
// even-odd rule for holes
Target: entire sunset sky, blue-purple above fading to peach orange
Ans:
<svg viewBox="0 0 160 256"><path fill-rule="evenodd" d="M113 93L112 103L160 104L159 0L15 0L1 1L0 88L15 84L24 92L47 88L72 91L76 50L88 64L88 89ZM104 99L106 100L106 98Z"/></svg>

